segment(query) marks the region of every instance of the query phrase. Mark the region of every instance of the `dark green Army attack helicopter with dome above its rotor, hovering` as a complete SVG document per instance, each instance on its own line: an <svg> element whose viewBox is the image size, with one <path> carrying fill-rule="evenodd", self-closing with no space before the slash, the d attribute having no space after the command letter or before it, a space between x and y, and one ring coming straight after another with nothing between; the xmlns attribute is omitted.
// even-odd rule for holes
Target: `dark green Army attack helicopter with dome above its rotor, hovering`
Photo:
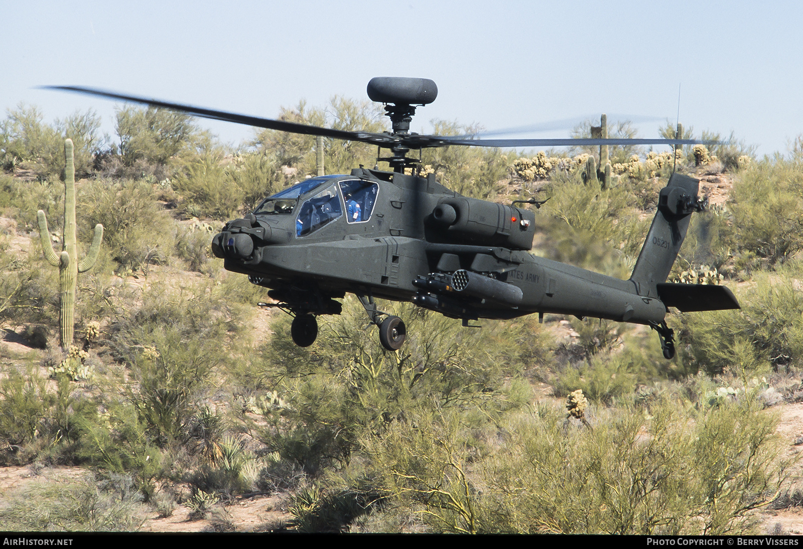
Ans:
<svg viewBox="0 0 803 549"><path fill-rule="evenodd" d="M390 171L363 166L349 174L311 177L267 197L243 218L227 222L212 239L212 253L226 270L268 289L294 317L292 340L312 345L316 317L338 315L338 299L357 296L383 347L406 339L402 319L380 311L375 299L412 302L463 326L477 319L514 319L538 313L640 323L658 332L663 355L675 356L669 307L680 311L740 308L727 287L667 283L691 214L702 212L699 180L673 173L658 194L658 208L630 279L621 280L529 253L535 213L543 201L497 204L456 193L419 175L410 151L446 146L536 147L567 145L696 144L683 139L477 139L410 132L417 107L432 103L430 79L379 77L368 84L371 100L385 106L390 132L351 132L168 103L88 87L50 87L108 99L169 108L283 132L356 140L389 150L377 157ZM409 173L408 173L409 172ZM517 205L519 204L519 205Z"/></svg>

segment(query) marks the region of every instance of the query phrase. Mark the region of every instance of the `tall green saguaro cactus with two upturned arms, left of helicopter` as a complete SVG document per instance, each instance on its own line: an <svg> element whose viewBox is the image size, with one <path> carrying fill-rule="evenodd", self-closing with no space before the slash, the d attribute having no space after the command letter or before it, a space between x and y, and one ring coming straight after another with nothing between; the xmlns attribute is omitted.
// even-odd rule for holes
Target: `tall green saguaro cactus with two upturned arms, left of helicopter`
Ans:
<svg viewBox="0 0 803 549"><path fill-rule="evenodd" d="M67 166L64 169L64 245L60 255L56 255L50 242L50 231L47 229L47 218L40 209L36 213L39 218L39 236L42 238L42 250L47 262L59 267L59 286L61 287L61 311L59 324L61 327L61 346L69 348L75 324L75 284L78 273L92 269L100 251L103 239L103 226L95 226L92 246L83 261L78 261L78 246L75 245L75 161L72 153L72 140L64 140L64 157Z"/></svg>

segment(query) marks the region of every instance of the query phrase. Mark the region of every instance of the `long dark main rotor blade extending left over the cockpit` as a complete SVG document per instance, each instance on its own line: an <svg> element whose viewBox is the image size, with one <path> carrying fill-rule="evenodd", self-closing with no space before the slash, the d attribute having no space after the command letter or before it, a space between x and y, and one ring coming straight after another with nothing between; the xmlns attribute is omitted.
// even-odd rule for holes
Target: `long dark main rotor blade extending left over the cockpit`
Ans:
<svg viewBox="0 0 803 549"><path fill-rule="evenodd" d="M93 87L80 87L80 86L43 86L47 90L61 90L73 91L88 96L99 96L108 99L116 99L121 101L129 101L131 103L140 103L145 105L152 105L153 107L169 108L173 111L187 112L194 116L201 116L202 118L210 118L212 120L223 120L226 122L234 122L236 124L246 124L247 126L255 126L257 128L275 129L280 132L301 133L308 136L324 136L334 137L336 139L343 139L349 141L367 141L376 144L377 138L385 138L381 134L372 134L368 132L346 132L344 130L336 130L331 128L320 128L320 126L312 126L308 124L296 124L295 122L284 122L283 120L271 120L269 118L260 118L259 116L247 116L236 114L234 112L215 111L209 108L194 107L192 105L184 105L178 103L168 103L167 101L159 101L148 99L145 97L137 96L124 96L120 93L113 91L99 90Z"/></svg>

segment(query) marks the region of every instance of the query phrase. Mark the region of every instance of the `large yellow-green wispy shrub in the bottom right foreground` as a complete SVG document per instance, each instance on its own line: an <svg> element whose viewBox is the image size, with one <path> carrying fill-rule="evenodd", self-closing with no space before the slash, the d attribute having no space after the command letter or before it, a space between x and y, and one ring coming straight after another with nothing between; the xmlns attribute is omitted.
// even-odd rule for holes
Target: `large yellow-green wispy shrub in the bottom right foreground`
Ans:
<svg viewBox="0 0 803 549"><path fill-rule="evenodd" d="M662 401L643 413L565 427L554 411L507 424L504 453L483 467L486 531L728 534L785 478L777 419L750 402L695 412ZM690 420L694 421L690 421ZM641 433L646 433L642 436ZM479 516L483 516L480 512Z"/></svg>

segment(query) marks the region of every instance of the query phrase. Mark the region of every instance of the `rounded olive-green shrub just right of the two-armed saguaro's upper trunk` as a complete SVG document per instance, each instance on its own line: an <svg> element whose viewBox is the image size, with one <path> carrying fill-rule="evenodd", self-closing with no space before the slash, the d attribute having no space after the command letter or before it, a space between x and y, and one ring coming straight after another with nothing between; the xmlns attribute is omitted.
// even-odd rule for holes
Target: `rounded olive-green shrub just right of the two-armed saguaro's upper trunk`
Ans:
<svg viewBox="0 0 803 549"><path fill-rule="evenodd" d="M173 252L175 229L144 181L88 181L79 188L78 226L104 226L103 246L127 269L162 263ZM87 229L89 230L89 229Z"/></svg>

